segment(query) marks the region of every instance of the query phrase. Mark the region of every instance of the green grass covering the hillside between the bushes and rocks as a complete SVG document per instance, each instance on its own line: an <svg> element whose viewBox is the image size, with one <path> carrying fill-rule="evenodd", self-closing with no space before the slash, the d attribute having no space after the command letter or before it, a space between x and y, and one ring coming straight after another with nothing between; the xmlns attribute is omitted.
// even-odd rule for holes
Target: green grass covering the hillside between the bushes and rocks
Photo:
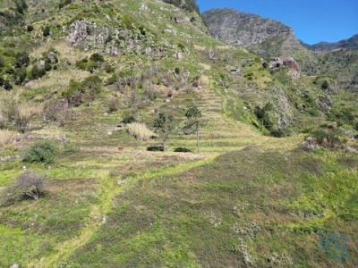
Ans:
<svg viewBox="0 0 358 268"><path fill-rule="evenodd" d="M21 28L18 36L0 38L5 63L13 64L17 50L29 51L36 63L51 47L59 51L60 62L57 70L33 81L30 88L14 87L14 93L19 101L34 100L38 105L48 97L61 99L71 78L90 76L75 62L94 51L69 46L62 26L86 18L109 27L132 28L128 23L132 18L135 34L143 25L149 33L142 45L165 48L166 57L127 51L117 57L105 55L105 61L116 72L131 70L135 75L157 67L154 85L160 75L175 68L189 71L185 84L189 92L180 90L167 103L168 88L160 85L158 98L139 113L151 127L158 110L171 111L180 119L188 106L198 105L208 121L200 131L200 154L173 152L176 147L195 151L193 135L175 135L168 152L154 153L146 148L160 140L139 142L126 130L116 130L129 107L125 96L110 86L103 85L90 106L71 108L64 126L34 118L28 138L0 150L0 156L13 156L0 162L0 189L11 185L23 170L21 155L35 140L54 140L62 149L50 165L26 163L28 170L47 176L45 197L0 207L0 266L353 266L358 259L354 243L349 244L349 258L331 258L319 247L318 234L343 231L356 239L357 156L296 150L303 136L265 137L262 133L268 131L254 115L255 106L265 104L280 88L294 107L295 130L317 127L327 118L323 113L309 114L317 112L312 99L321 94L314 79L303 75L292 80L286 71L272 74L255 54L210 38L198 14L177 11L160 1L145 2L148 13L140 12L141 2L134 0L74 3L61 11L55 1L31 5L27 23L32 22L34 32ZM37 13L40 6L43 13ZM197 22L173 23L174 12ZM54 35L42 40L38 36L47 24ZM216 50L215 61L209 59L210 48ZM183 50L180 61L172 56L177 50ZM227 71L232 66L242 71ZM96 74L102 80L112 75L103 68ZM209 87L192 90L192 80L200 75L208 76ZM303 96L306 89L312 98ZM121 107L107 114L112 96L120 99ZM332 97L337 102L334 109L339 112L345 104L355 109L352 96ZM303 105L307 111L296 109ZM77 148L71 154L59 141L64 135Z"/></svg>

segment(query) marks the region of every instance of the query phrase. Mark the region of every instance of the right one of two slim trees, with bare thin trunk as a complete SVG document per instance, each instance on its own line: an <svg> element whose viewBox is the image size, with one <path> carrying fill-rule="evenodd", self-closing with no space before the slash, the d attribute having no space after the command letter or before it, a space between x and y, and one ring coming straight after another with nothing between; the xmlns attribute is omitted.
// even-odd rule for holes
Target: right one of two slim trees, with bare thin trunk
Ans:
<svg viewBox="0 0 358 268"><path fill-rule="evenodd" d="M184 125L184 132L196 134L196 149L199 153L199 139L200 129L205 126L206 121L202 119L202 114L197 106L190 107L185 113L186 121Z"/></svg>

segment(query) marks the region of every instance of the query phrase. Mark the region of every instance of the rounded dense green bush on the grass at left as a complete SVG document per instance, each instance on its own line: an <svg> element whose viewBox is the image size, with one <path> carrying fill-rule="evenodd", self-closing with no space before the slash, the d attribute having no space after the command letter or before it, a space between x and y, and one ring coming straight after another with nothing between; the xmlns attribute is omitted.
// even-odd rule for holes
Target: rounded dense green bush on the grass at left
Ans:
<svg viewBox="0 0 358 268"><path fill-rule="evenodd" d="M49 140L40 140L33 144L22 158L27 163L54 163L57 149Z"/></svg>

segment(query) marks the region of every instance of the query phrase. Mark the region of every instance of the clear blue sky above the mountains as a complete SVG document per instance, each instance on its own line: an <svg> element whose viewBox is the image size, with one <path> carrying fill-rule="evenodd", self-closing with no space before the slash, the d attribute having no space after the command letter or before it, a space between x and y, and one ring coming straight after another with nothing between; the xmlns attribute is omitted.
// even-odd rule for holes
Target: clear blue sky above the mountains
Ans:
<svg viewBox="0 0 358 268"><path fill-rule="evenodd" d="M358 0L198 0L201 12L232 7L282 21L307 44L358 34Z"/></svg>

